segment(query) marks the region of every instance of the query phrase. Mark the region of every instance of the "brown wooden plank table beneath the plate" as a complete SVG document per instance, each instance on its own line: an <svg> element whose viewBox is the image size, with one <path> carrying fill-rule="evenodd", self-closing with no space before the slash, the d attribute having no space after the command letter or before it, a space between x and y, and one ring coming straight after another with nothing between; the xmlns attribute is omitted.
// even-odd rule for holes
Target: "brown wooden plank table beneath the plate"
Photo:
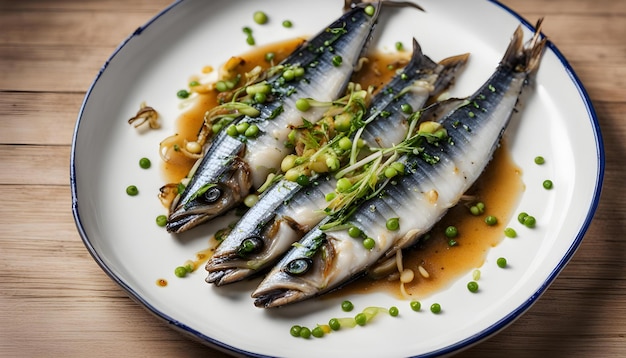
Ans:
<svg viewBox="0 0 626 358"><path fill-rule="evenodd" d="M169 0L0 0L0 356L224 356L129 299L71 214L78 110L115 47ZM626 356L626 1L505 0L586 86L604 135L602 200L543 297L460 357ZM484 20L480 20L484 21ZM621 158L621 159L620 159Z"/></svg>

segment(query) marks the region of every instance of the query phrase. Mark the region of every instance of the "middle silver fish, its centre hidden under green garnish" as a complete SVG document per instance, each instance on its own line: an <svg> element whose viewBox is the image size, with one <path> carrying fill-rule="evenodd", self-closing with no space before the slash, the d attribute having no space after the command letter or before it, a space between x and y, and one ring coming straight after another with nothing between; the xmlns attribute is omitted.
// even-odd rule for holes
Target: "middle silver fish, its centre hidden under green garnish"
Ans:
<svg viewBox="0 0 626 358"><path fill-rule="evenodd" d="M401 107L408 104L420 109L429 97L450 86L467 58L467 54L459 55L437 64L414 40L409 63L372 99L364 116L372 119L360 138L380 147L401 142L409 127L409 114ZM320 175L311 183L303 187L283 179L264 192L207 262L206 281L224 285L258 273L318 224L326 216L322 210L327 205L325 195L334 191L336 180Z"/></svg>

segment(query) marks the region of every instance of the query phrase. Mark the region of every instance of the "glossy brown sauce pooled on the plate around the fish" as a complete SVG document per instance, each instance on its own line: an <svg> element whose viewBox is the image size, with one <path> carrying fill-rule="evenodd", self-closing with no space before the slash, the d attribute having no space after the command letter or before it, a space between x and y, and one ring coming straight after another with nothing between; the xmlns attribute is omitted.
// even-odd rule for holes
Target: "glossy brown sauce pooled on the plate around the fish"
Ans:
<svg viewBox="0 0 626 358"><path fill-rule="evenodd" d="M243 73L257 65L267 67L268 63L264 59L267 52L274 52L275 61L279 62L301 43L302 39L295 39L258 47L240 56L245 60L245 65L240 70ZM360 83L364 88L374 86L380 89L395 75L397 69L407 63L409 55L406 52L368 55L368 60L363 63L352 80ZM196 139L205 112L216 105L217 91L215 90L197 96L192 106L176 120L176 137L180 141L179 145L182 146L185 139L188 141ZM163 164L163 173L167 182L179 182L187 175L194 161L182 154L172 156L168 163ZM481 267L489 249L504 238L503 223L508 222L523 190L521 170L513 163L506 145L502 145L474 188L468 193L485 203L485 213L481 216L473 216L461 203L451 209L431 230L430 238L425 243L405 250L404 268L410 268L415 272L415 279L405 285L406 292L412 298L428 296L450 285L470 270ZM498 224L486 225L484 218L487 215L497 217ZM459 236L455 238L458 243L456 246L450 247L448 239L443 234L448 225L454 225L459 230ZM213 251L214 248L211 247L198 253L194 262L195 266L199 267ZM429 278L420 276L417 270L420 265L426 269ZM398 280L363 278L340 290L338 294L345 294L346 290L355 293L383 290L399 297L402 296Z"/></svg>

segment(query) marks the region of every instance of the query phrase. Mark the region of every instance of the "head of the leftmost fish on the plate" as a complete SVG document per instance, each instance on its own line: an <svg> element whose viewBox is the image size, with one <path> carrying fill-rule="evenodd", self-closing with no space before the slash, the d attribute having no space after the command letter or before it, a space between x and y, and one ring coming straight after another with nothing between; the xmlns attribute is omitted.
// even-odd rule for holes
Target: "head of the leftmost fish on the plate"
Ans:
<svg viewBox="0 0 626 358"><path fill-rule="evenodd" d="M190 186L172 205L166 229L181 233L239 205L252 186L248 165L235 157L202 185Z"/></svg>

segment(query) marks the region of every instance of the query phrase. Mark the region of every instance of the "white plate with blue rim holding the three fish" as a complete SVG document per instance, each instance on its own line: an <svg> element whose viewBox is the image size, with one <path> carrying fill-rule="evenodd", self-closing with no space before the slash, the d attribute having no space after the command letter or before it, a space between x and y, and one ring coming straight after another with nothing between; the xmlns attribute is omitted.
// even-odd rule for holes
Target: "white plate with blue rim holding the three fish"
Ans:
<svg viewBox="0 0 626 358"><path fill-rule="evenodd" d="M393 51L396 41L410 44L416 37L435 60L471 52L468 68L454 87L456 96L471 94L488 78L520 23L527 38L531 33L526 21L497 2L419 4L426 13L385 12L373 45ZM103 66L80 111L71 158L78 230L96 262L131 297L172 326L234 354L389 357L455 352L502 329L538 299L576 251L596 209L604 168L598 121L582 84L552 44L543 57L536 92L507 133L527 187L515 212L531 212L539 224L524 231L524 238L505 240L490 250L481 267L479 294L465 288L468 272L424 299L419 313L407 301L384 294L349 296L345 298L357 308L398 306L400 316L323 339L296 339L289 335L293 324L314 326L345 316L341 299L265 311L252 304L252 284L216 289L204 283L202 269L178 279L173 269L204 249L205 237L216 226L177 239L154 222L164 213L156 200L164 183L158 144L174 131L180 114L176 92L185 88L189 76L249 50L243 26L253 28L258 44L267 44L315 34L340 16L341 7L341 0L300 1L297 9L293 0L188 0L139 28ZM259 9L269 14L269 24L252 21ZM284 19L293 28L283 28ZM157 107L161 130L140 134L127 124L142 101ZM535 165L537 155L547 163ZM150 170L139 168L141 157L152 159ZM541 187L545 178L554 181L553 190ZM139 196L126 195L130 184L139 187ZM515 218L509 225L522 230ZM496 268L500 256L512 263L508 270ZM158 278L169 285L158 287ZM442 314L428 311L432 302L444 307Z"/></svg>

